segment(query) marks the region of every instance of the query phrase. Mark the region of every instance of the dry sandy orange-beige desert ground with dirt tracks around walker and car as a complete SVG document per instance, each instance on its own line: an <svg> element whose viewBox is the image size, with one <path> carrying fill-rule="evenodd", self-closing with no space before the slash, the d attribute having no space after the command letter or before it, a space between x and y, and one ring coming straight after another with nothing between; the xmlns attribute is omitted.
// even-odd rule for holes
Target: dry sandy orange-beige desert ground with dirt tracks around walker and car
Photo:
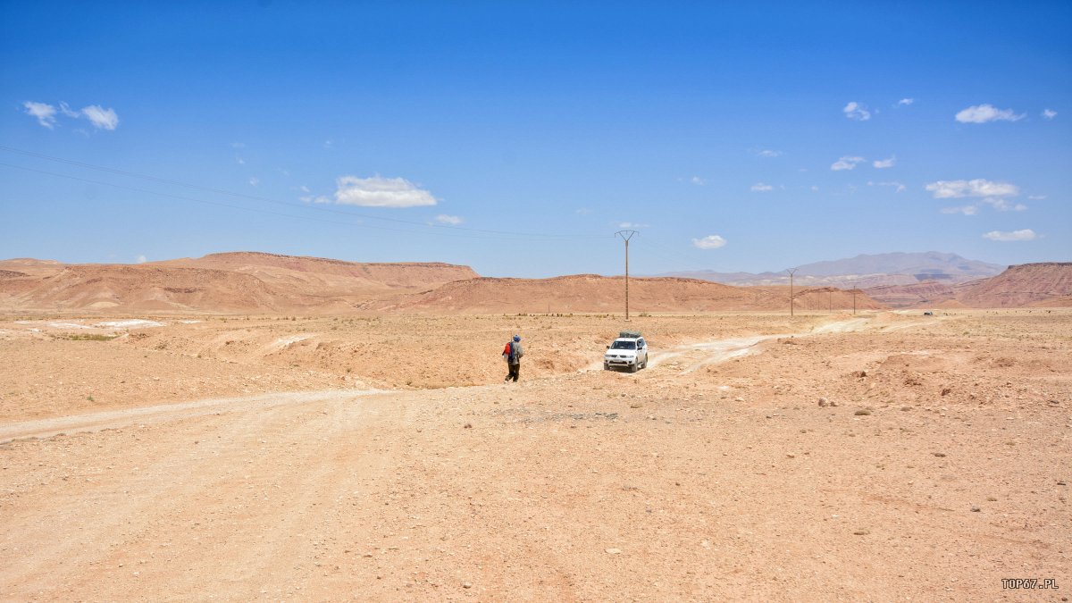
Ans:
<svg viewBox="0 0 1072 603"><path fill-rule="evenodd" d="M0 321L0 600L1072 590L1068 310L128 320Z"/></svg>

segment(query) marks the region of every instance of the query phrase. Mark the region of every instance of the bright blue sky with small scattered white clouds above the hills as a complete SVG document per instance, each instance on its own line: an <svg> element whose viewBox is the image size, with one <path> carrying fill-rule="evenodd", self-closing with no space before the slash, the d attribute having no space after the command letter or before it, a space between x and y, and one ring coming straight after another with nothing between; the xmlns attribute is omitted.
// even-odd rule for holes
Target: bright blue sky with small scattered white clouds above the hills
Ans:
<svg viewBox="0 0 1072 603"><path fill-rule="evenodd" d="M0 258L1072 260L1068 2L0 0Z"/></svg>

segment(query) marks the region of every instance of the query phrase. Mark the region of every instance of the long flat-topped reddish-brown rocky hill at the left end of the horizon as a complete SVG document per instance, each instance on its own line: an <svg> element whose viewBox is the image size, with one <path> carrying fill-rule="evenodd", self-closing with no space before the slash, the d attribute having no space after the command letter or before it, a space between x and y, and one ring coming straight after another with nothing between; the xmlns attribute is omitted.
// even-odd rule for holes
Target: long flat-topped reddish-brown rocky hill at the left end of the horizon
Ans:
<svg viewBox="0 0 1072 603"><path fill-rule="evenodd" d="M361 264L219 253L146 264L0 262L0 310L346 312L378 297L476 277L442 263Z"/></svg>

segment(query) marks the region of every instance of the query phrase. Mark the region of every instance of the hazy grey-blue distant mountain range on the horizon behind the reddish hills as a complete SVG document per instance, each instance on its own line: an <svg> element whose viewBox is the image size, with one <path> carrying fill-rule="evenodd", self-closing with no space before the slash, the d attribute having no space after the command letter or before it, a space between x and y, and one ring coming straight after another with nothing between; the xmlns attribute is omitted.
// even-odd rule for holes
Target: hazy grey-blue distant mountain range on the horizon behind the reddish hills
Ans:
<svg viewBox="0 0 1072 603"><path fill-rule="evenodd" d="M794 274L793 283L802 286L870 288L937 281L951 285L991 278L1001 274L1004 268L999 264L938 251L860 254L844 260L804 264ZM702 279L735 286L789 284L789 275L785 271L754 274L696 270L658 276Z"/></svg>

